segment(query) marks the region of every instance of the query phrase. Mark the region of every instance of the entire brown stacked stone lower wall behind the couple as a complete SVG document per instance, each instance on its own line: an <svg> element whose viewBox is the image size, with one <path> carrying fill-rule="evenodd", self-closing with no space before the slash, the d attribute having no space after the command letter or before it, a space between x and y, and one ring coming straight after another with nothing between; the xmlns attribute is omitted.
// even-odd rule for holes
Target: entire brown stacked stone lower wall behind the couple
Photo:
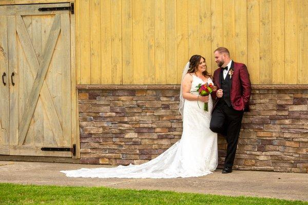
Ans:
<svg viewBox="0 0 308 205"><path fill-rule="evenodd" d="M253 87L234 169L307 173L308 90L282 88ZM128 165L157 157L181 138L178 106L179 86L79 86L81 163ZM222 168L222 136L218 148Z"/></svg>

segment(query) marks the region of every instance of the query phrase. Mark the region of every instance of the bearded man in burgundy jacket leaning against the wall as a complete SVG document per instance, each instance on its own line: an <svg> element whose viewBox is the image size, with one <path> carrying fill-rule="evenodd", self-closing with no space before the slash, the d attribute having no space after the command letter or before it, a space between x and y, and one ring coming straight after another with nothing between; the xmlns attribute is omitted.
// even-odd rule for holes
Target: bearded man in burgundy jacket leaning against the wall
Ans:
<svg viewBox="0 0 308 205"><path fill-rule="evenodd" d="M247 67L230 58L228 49L219 47L214 51L218 69L213 76L217 99L210 120L210 130L226 137L227 155L222 173L231 173L244 111L249 111L251 81Z"/></svg>

